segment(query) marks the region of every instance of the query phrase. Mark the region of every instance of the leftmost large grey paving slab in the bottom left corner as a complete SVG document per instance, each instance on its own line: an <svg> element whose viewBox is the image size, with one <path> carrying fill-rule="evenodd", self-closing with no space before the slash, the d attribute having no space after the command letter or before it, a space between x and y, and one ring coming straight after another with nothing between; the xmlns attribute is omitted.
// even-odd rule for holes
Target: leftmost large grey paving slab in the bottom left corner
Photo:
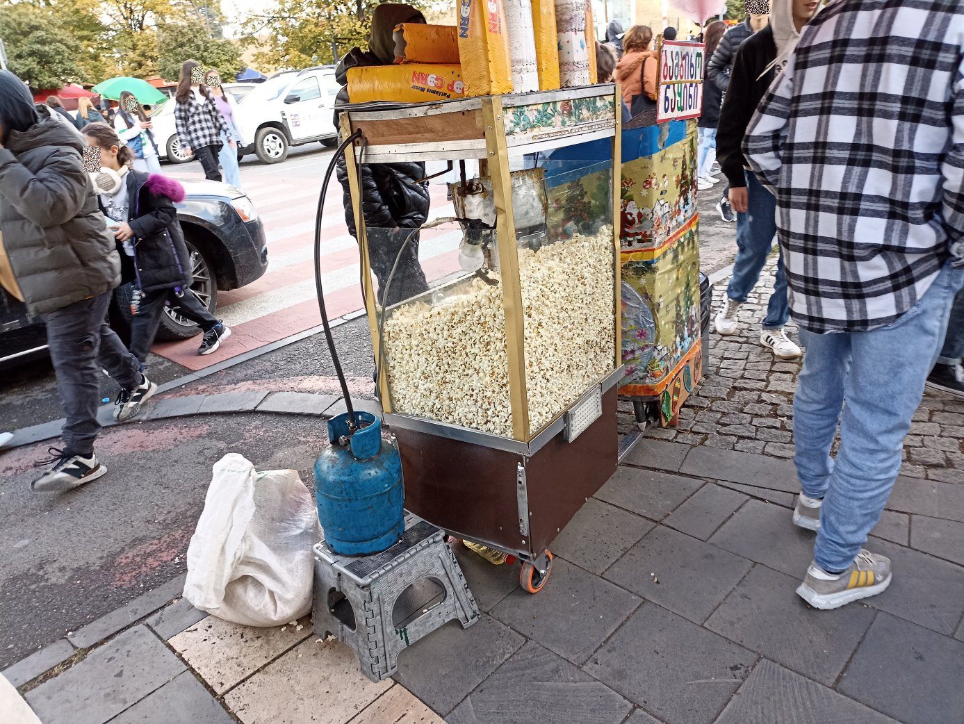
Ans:
<svg viewBox="0 0 964 724"><path fill-rule="evenodd" d="M25 698L43 724L104 724L184 670L160 639L138 626Z"/></svg>

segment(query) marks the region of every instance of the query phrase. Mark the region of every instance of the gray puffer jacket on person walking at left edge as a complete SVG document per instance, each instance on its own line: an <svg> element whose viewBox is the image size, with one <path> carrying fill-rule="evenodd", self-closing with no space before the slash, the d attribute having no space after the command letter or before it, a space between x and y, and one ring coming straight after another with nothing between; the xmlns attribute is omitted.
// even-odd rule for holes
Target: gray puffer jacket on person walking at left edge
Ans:
<svg viewBox="0 0 964 724"><path fill-rule="evenodd" d="M0 230L32 314L120 283L120 255L81 166L80 134L40 113L0 148Z"/></svg>

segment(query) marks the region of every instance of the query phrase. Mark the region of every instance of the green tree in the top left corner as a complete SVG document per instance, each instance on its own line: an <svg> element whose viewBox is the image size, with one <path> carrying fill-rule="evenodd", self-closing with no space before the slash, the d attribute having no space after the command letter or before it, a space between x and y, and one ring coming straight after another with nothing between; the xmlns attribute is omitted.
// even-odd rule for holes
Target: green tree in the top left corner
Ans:
<svg viewBox="0 0 964 724"><path fill-rule="evenodd" d="M81 80L80 54L49 10L28 4L0 8L0 38L10 69L35 91Z"/></svg>

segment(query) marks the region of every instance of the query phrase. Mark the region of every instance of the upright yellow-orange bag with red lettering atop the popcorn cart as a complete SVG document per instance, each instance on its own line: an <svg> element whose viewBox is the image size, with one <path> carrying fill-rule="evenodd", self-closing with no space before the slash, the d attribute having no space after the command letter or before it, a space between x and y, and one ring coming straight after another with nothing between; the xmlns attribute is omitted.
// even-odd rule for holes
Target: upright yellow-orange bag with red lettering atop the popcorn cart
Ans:
<svg viewBox="0 0 964 724"><path fill-rule="evenodd" d="M512 93L502 0L460 0L459 56L463 59L466 95Z"/></svg>

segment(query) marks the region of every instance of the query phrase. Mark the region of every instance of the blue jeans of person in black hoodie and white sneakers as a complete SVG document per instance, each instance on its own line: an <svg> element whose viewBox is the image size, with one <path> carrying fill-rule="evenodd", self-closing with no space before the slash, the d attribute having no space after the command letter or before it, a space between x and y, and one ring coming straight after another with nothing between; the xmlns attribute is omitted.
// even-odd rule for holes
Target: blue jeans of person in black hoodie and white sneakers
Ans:
<svg viewBox="0 0 964 724"><path fill-rule="evenodd" d="M736 261L733 277L726 295L742 304L760 281L760 273L766 264L766 255L773 246L777 234L777 200L763 188L755 174L746 174L746 192L749 199L746 213L736 214ZM790 319L787 302L787 275L783 267L783 252L777 259L776 282L763 319L764 330L778 330Z"/></svg>

